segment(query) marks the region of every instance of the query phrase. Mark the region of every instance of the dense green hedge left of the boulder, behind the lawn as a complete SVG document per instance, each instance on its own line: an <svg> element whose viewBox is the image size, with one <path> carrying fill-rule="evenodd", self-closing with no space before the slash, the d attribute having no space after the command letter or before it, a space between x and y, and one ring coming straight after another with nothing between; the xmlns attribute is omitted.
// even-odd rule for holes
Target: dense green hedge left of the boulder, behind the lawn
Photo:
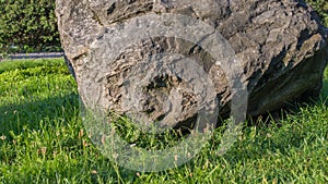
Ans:
<svg viewBox="0 0 328 184"><path fill-rule="evenodd" d="M0 0L0 53L58 51L55 0Z"/></svg>

